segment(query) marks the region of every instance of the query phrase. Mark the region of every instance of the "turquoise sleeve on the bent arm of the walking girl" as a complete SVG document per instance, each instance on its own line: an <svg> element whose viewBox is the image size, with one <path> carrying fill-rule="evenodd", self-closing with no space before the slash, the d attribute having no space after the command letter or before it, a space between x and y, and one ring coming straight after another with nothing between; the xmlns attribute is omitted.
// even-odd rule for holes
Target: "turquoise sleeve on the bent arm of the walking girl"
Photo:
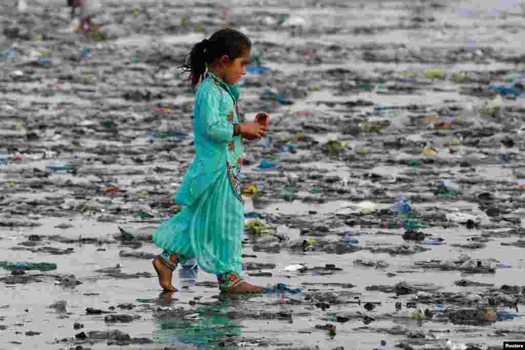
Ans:
<svg viewBox="0 0 525 350"><path fill-rule="evenodd" d="M222 118L219 113L220 95L215 89L204 92L201 104L201 113L206 137L217 142L231 142L233 140L233 124ZM223 116L224 117L224 116Z"/></svg>

